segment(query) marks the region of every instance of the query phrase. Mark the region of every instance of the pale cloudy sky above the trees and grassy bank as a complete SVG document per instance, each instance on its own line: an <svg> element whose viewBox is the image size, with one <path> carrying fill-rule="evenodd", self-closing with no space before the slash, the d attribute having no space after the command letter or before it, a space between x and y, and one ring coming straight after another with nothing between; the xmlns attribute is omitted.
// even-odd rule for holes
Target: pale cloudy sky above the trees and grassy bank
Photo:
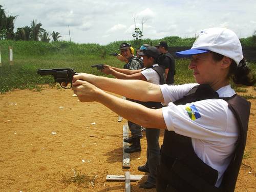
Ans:
<svg viewBox="0 0 256 192"><path fill-rule="evenodd" d="M210 27L225 27L238 37L256 30L255 0L1 0L7 15L18 15L15 30L32 20L62 40L100 45L133 39L136 27L145 38L194 37ZM68 28L69 26L69 28Z"/></svg>

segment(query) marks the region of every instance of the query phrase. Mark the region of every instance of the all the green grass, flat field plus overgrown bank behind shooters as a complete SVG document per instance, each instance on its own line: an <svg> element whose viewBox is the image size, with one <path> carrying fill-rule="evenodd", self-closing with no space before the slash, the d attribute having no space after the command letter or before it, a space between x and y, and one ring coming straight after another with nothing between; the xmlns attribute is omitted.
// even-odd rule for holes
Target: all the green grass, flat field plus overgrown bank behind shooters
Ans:
<svg viewBox="0 0 256 192"><path fill-rule="evenodd" d="M165 37L164 39L144 39L141 43L157 44L160 40L166 40L170 45L189 46L193 38L181 39L179 37ZM171 42L172 41L172 42ZM122 68L124 63L109 53L118 52L121 41L112 42L106 46L97 44L75 44L73 42L41 41L12 41L1 40L2 67L0 67L0 92L5 93L14 89L40 90L38 85L50 83L53 86L54 79L51 76L40 76L37 69L74 68L76 72L85 72L101 75L100 71L91 68L91 65L103 63ZM134 41L131 41L133 44ZM9 66L8 46L13 47L14 66ZM176 59L175 83L183 84L195 82L192 72L188 70L188 59ZM255 63L250 67L256 73ZM245 92L244 88L234 86L237 92ZM255 90L255 87L254 87ZM251 96L250 98L254 98Z"/></svg>

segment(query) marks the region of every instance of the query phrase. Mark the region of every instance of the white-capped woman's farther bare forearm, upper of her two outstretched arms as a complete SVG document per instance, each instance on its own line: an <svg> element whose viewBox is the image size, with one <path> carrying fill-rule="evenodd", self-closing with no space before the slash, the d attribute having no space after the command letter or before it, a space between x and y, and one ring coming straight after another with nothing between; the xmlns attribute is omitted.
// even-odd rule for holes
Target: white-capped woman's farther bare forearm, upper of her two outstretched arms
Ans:
<svg viewBox="0 0 256 192"><path fill-rule="evenodd" d="M164 102L162 92L157 84L141 80L114 79L96 75L79 73L73 76L73 86L77 86L78 79L88 81L97 88L123 95L130 99L140 101Z"/></svg>

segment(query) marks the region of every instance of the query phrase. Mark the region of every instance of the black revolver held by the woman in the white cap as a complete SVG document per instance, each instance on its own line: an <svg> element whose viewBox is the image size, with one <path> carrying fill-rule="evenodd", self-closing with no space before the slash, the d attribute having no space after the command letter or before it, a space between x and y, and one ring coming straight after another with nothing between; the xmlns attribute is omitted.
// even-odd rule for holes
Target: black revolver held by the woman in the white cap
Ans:
<svg viewBox="0 0 256 192"><path fill-rule="evenodd" d="M58 82L61 88L64 89L72 88L73 76L78 74L71 68L38 69L37 73L39 75L53 75L55 82ZM70 84L70 87L67 88L68 84Z"/></svg>

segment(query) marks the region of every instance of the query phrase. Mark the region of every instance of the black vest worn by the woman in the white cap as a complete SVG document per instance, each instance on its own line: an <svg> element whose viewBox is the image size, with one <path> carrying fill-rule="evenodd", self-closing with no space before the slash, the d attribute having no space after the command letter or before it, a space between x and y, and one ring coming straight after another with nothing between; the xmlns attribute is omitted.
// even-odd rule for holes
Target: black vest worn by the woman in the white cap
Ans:
<svg viewBox="0 0 256 192"><path fill-rule="evenodd" d="M211 98L220 97L209 86L201 84L191 89L186 96L175 101L174 104L186 104ZM238 95L220 99L228 102L229 109L236 116L240 129L239 139L236 143L237 147L224 173L221 186L219 188L215 187L218 172L196 155L191 138L176 134L173 131L165 131L157 176L159 181L157 181L158 192L234 191L246 143L250 102Z"/></svg>

